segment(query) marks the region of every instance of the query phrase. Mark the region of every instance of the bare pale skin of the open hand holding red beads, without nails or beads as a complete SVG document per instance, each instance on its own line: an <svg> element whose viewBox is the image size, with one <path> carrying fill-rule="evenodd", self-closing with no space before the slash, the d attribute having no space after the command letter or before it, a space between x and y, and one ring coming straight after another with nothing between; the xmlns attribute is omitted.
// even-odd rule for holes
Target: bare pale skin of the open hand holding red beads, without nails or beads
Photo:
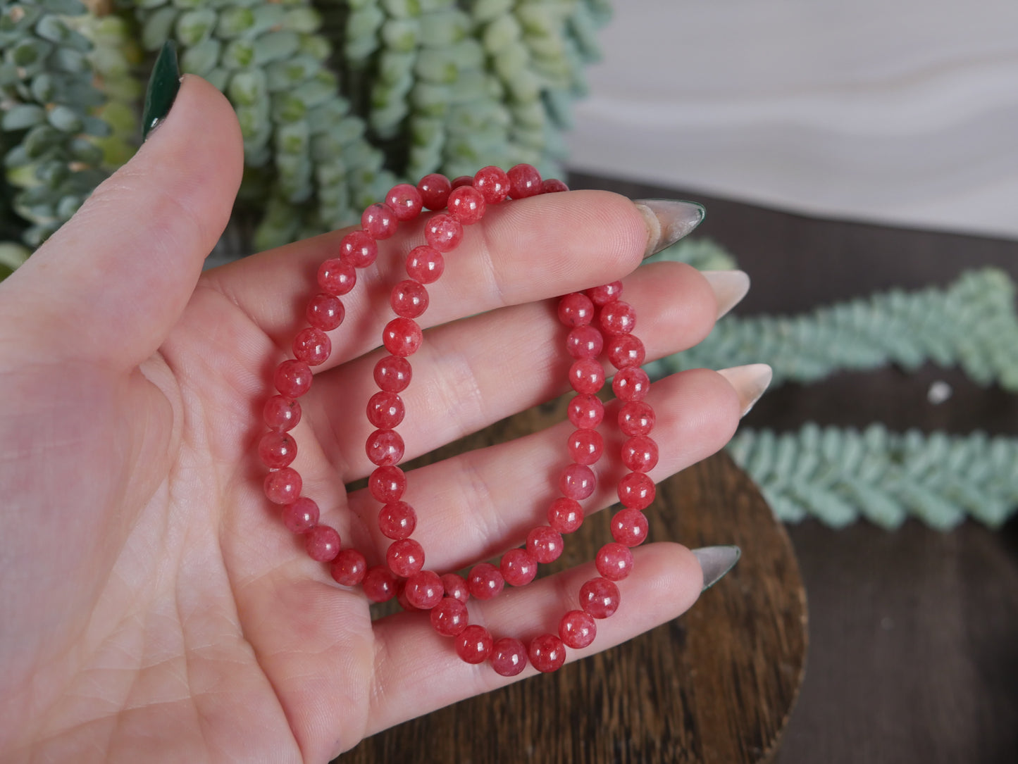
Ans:
<svg viewBox="0 0 1018 764"><path fill-rule="evenodd" d="M202 274L241 168L229 104L185 77L135 159L0 285L0 760L324 762L534 673L461 662L419 614L373 624L364 596L309 560L265 498L254 447L271 371L342 232ZM358 275L294 430L304 493L370 563L385 549L377 505L344 485L372 469L369 351L417 243L408 228ZM407 458L565 392L556 295L621 278L648 357L701 340L718 311L710 285L675 263L633 273L645 244L636 209L605 192L509 202L468 229L429 287L403 395ZM740 410L738 391L709 370L657 384L649 401L656 480L718 451ZM427 567L491 556L545 522L569 431L411 472ZM612 503L601 483L590 511ZM634 551L619 612L572 658L698 596L688 549ZM592 575L588 564L471 602L471 622L554 631Z"/></svg>

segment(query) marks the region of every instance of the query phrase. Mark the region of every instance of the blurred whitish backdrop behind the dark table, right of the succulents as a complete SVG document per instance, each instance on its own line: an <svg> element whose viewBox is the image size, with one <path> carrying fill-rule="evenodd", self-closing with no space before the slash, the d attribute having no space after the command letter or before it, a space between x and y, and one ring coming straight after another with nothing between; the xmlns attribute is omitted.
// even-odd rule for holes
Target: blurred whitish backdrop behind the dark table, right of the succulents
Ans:
<svg viewBox="0 0 1018 764"><path fill-rule="evenodd" d="M1018 0L616 0L570 166L1018 238Z"/></svg>

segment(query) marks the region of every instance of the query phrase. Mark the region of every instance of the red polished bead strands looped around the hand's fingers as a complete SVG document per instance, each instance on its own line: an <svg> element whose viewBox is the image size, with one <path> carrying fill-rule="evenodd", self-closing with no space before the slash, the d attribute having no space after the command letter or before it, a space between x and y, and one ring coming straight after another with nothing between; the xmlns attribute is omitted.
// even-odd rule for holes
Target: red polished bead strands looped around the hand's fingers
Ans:
<svg viewBox="0 0 1018 764"><path fill-rule="evenodd" d="M569 384L576 393L568 408L569 420L576 427L568 439L572 462L559 477L561 496L548 508L548 525L539 525L526 537L523 547L510 549L500 564L478 563L466 579L454 573L440 576L426 570L425 550L411 538L417 517L413 508L402 501L406 475L398 466L403 458L403 440L396 427L405 408L399 394L410 383L412 370L407 360L420 347L422 333L414 320L428 308L426 284L436 282L445 270L443 253L452 251L463 238L463 226L478 222L488 204L508 198L523 198L539 193L567 190L559 180L544 180L530 165L516 165L508 173L486 167L472 178L462 176L450 182L445 176L426 176L416 187L401 183L386 195L386 201L369 207L361 216L361 229L346 234L340 241L339 256L327 259L318 272L322 292L307 303L309 326L293 340L294 358L279 364L274 385L279 395L270 398L264 408L269 426L259 443L259 456L270 469L265 479L268 498L283 506L286 527L304 536L304 546L313 560L330 564L333 579L343 586L360 585L365 596L375 602L398 597L408 610L430 612L430 621L439 634L453 637L456 653L468 663L489 660L504 677L512 677L526 666L527 660L541 671L554 671L565 662L566 647L588 646L597 634L596 619L606 619L619 606L620 592L615 582L632 571L631 546L641 543L647 534L642 514L655 498L655 484L647 472L658 463L658 446L649 437L655 413L643 400L649 391L649 378L640 368L645 352L632 334L636 315L623 302L621 282L575 292L560 298L559 319L569 328L566 350L571 358ZM288 433L300 419L297 399L312 386L312 366L328 360L332 344L326 334L343 321L344 307L339 299L356 284L356 270L372 265L378 256L378 241L391 237L400 222L417 218L422 209L442 211L425 225L425 245L410 250L406 260L408 279L398 283L390 295L396 317L382 333L382 343L390 355L375 366L379 392L367 402L367 418L377 429L365 444L367 458L376 465L369 478L369 491L381 505L379 529L392 540L386 551L386 564L367 567L363 553L342 548L339 533L319 523L318 505L301 495L300 475L289 465L297 448ZM506 583L525 586L534 579L538 565L552 563L563 550L563 533L571 533L583 521L582 499L593 493L596 476L591 465L604 452L604 438L597 430L604 414L604 404L597 393L604 386L605 369L599 357L604 354L618 369L612 381L616 397L623 402L618 424L626 440L621 462L629 471L619 480L617 493L623 509L612 519L612 536L596 556L599 577L579 590L578 609L566 612L558 634L542 634L527 646L514 637L495 639L484 627L470 625L466 602L499 595Z"/></svg>

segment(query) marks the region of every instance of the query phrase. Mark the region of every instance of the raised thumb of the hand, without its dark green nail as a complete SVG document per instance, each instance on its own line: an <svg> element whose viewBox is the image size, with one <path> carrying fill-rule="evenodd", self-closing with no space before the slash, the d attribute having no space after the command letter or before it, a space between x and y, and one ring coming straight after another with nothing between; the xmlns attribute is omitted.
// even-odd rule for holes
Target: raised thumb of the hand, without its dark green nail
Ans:
<svg viewBox="0 0 1018 764"><path fill-rule="evenodd" d="M3 283L2 324L51 359L133 367L180 317L242 170L229 102L185 76L137 154Z"/></svg>

